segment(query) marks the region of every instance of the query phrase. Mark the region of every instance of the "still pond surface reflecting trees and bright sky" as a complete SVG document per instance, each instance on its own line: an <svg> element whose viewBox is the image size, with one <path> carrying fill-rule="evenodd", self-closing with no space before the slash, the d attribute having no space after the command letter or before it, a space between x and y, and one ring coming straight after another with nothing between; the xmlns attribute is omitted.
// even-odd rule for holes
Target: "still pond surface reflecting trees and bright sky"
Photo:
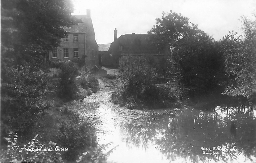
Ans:
<svg viewBox="0 0 256 163"><path fill-rule="evenodd" d="M253 109L108 109L110 162L256 162ZM106 108L102 108L106 112ZM107 121L106 121L107 122ZM108 125L109 126L109 125Z"/></svg>

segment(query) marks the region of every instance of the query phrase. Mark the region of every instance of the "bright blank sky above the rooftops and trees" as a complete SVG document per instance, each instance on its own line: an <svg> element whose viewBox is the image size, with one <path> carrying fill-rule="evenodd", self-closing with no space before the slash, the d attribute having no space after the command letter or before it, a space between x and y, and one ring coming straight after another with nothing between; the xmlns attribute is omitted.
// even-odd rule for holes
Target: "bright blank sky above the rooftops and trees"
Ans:
<svg viewBox="0 0 256 163"><path fill-rule="evenodd" d="M240 31L241 16L256 14L255 0L72 0L73 15L86 15L90 9L98 44L112 43L126 33L147 33L162 12L188 17L198 28L220 40L228 31ZM241 33L241 32L240 32Z"/></svg>

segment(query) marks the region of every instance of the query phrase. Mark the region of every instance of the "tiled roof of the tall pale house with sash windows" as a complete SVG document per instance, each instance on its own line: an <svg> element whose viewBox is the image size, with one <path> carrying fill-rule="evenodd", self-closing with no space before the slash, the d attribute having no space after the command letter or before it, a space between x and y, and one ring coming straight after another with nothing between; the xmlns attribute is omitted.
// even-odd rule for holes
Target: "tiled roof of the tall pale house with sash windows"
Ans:
<svg viewBox="0 0 256 163"><path fill-rule="evenodd" d="M63 29L70 33L86 33L91 18L86 17L86 15L74 15L77 19L82 19L82 23L77 23L72 25L70 28L63 27Z"/></svg>

